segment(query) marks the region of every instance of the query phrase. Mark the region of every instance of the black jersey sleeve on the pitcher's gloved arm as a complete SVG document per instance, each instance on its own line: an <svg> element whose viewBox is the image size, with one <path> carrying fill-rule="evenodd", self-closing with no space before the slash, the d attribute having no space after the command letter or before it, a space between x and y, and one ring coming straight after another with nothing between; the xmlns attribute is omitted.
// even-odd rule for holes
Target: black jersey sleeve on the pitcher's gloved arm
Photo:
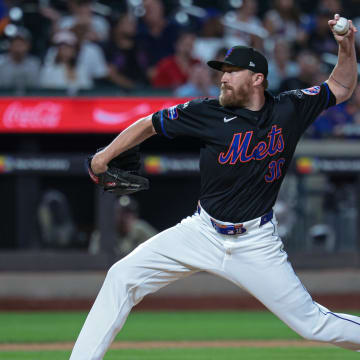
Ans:
<svg viewBox="0 0 360 360"><path fill-rule="evenodd" d="M152 115L154 129L158 135L170 139L177 136L203 138L204 107L203 100L196 99L157 111Z"/></svg>

